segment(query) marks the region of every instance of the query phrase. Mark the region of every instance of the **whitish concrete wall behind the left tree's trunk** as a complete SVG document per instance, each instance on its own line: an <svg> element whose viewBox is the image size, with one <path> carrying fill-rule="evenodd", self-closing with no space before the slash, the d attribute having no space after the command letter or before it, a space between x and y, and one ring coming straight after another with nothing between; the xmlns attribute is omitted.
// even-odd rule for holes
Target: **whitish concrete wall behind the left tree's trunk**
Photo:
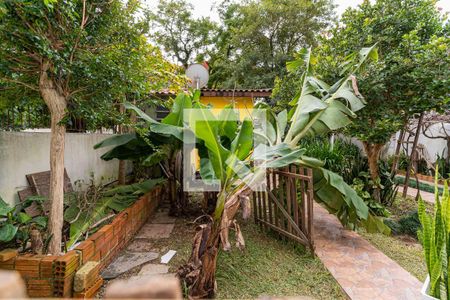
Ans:
<svg viewBox="0 0 450 300"><path fill-rule="evenodd" d="M91 174L97 184L117 178L118 161L100 159L108 148L93 149L95 144L110 136L66 134L65 166L74 187L77 180L88 184ZM8 203L16 203L17 191L28 186L26 174L50 170L49 153L50 133L0 132L0 197Z"/></svg>

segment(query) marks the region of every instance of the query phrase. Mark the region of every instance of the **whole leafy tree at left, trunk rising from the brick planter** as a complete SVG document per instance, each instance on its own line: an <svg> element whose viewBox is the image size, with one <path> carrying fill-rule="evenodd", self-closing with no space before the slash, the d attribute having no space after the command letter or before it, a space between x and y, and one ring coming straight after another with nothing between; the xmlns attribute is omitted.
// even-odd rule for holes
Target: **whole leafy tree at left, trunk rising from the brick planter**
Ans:
<svg viewBox="0 0 450 300"><path fill-rule="evenodd" d="M149 88L154 50L139 1L0 2L0 84L29 89L51 114L49 252L61 252L64 141L73 112L110 118L117 99ZM168 74L168 73L167 73ZM167 76L167 75L166 75ZM144 81L143 81L144 80Z"/></svg>

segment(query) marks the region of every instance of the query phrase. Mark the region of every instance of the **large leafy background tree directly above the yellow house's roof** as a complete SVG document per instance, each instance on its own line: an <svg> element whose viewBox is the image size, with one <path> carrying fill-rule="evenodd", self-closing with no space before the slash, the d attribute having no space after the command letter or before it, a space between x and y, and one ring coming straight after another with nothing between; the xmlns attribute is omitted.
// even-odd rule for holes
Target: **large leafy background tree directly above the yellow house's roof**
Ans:
<svg viewBox="0 0 450 300"><path fill-rule="evenodd" d="M333 16L330 0L223 1L211 85L272 87L302 47L316 45Z"/></svg>

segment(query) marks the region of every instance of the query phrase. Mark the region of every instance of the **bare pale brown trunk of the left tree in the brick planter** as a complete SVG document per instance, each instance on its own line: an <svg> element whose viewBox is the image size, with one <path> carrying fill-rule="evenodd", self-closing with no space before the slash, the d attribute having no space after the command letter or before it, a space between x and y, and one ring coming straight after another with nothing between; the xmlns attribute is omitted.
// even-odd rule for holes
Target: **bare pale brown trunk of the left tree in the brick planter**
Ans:
<svg viewBox="0 0 450 300"><path fill-rule="evenodd" d="M51 203L48 232L51 235L48 251L57 255L61 252L61 238L64 214L64 142L66 127L60 124L67 108L66 97L47 72L50 64L44 62L39 78L39 90L51 114L50 141L50 193Z"/></svg>

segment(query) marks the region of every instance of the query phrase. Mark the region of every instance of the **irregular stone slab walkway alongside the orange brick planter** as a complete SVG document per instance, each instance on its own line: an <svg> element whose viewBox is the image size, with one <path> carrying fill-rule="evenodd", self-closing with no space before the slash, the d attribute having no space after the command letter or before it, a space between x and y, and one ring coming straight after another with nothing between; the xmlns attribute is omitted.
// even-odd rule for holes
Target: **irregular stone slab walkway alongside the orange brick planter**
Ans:
<svg viewBox="0 0 450 300"><path fill-rule="evenodd" d="M168 215L168 208L159 208L138 231L128 247L102 272L102 277L109 280L106 285L153 276L174 277L174 273L169 273L169 266L160 263L161 256L166 253L156 252L153 244L156 240L168 239L171 236L175 221L175 218Z"/></svg>

